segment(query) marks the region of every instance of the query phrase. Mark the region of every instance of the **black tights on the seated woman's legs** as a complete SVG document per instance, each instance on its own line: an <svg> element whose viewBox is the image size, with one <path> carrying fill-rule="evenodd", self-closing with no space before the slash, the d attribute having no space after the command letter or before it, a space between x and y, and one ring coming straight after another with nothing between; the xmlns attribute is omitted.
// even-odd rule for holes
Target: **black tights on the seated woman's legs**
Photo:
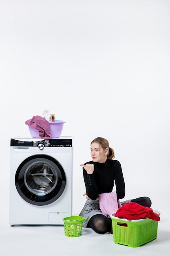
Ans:
<svg viewBox="0 0 170 256"><path fill-rule="evenodd" d="M132 199L131 202L146 207L151 206L151 201L148 197ZM112 220L102 214L96 214L89 220L88 227L91 227L98 234L105 234L106 232L112 233Z"/></svg>

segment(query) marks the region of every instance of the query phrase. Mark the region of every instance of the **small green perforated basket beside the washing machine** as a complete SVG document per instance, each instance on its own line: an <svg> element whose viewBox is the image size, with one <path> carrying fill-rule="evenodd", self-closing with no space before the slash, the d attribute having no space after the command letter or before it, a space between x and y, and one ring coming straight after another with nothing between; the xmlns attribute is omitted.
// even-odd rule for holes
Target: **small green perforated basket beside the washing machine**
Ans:
<svg viewBox="0 0 170 256"><path fill-rule="evenodd" d="M62 219L64 221L64 234L69 237L82 235L82 225L85 220L81 216L70 216Z"/></svg>

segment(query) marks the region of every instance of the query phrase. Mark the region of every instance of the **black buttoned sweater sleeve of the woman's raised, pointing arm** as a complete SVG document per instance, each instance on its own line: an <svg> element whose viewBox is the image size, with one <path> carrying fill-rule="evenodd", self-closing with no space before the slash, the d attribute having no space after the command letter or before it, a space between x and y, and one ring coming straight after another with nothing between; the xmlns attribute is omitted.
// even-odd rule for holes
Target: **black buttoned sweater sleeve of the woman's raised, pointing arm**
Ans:
<svg viewBox="0 0 170 256"><path fill-rule="evenodd" d="M83 168L83 177L88 197L91 198L92 200L96 200L96 198L99 195L99 192L95 183L94 175L88 174L86 170Z"/></svg>

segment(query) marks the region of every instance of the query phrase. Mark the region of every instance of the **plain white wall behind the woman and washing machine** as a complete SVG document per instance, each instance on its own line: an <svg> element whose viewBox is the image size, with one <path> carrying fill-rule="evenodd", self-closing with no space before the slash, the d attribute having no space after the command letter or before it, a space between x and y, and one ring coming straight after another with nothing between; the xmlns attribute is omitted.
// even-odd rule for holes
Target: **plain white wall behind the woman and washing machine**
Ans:
<svg viewBox="0 0 170 256"><path fill-rule="evenodd" d="M82 164L106 137L125 199L167 211L170 171L170 2L1 0L1 204L9 208L10 138L44 109L74 137L73 213L84 205ZM2 92L3 91L3 92Z"/></svg>

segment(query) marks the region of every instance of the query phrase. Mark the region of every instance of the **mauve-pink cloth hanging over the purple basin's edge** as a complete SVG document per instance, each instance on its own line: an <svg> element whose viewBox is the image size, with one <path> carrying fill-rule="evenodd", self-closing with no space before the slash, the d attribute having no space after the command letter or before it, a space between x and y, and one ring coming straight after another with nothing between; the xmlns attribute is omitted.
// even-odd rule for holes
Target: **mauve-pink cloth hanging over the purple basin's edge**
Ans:
<svg viewBox="0 0 170 256"><path fill-rule="evenodd" d="M40 117L40 116L32 117L31 119L25 121L25 124L38 130L38 134L40 138L43 138L43 139L51 138L49 121L47 121L43 117Z"/></svg>

